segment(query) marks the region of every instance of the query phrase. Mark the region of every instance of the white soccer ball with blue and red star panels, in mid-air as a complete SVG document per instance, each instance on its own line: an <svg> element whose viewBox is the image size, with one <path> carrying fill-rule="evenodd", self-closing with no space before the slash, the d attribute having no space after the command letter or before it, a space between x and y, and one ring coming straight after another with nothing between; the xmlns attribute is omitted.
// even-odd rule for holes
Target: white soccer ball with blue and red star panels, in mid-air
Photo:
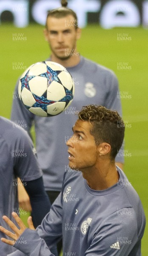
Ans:
<svg viewBox="0 0 148 256"><path fill-rule="evenodd" d="M62 65L53 61L37 62L21 76L18 94L31 113L56 116L71 104L74 81Z"/></svg>

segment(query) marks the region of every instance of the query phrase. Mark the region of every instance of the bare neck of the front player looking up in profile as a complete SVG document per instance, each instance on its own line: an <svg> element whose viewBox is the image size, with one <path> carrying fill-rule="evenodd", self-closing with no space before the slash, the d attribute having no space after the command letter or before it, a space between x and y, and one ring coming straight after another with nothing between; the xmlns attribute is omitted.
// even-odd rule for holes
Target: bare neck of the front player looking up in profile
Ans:
<svg viewBox="0 0 148 256"><path fill-rule="evenodd" d="M108 189L119 180L115 163L103 163L91 169L81 170L83 177L87 180L88 186L94 190Z"/></svg>

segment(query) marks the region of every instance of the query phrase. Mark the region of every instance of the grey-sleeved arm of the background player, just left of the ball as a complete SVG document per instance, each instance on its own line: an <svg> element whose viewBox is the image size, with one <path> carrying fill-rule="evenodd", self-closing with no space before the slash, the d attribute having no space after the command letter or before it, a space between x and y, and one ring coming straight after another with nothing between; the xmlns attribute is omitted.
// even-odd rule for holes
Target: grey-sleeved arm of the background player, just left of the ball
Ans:
<svg viewBox="0 0 148 256"><path fill-rule="evenodd" d="M28 111L28 109L26 109L23 105L23 102L20 100L18 95L18 84L19 80L17 81L15 91L13 93L11 121L14 122L16 125L24 128L30 135L30 129L34 120L34 114Z"/></svg>

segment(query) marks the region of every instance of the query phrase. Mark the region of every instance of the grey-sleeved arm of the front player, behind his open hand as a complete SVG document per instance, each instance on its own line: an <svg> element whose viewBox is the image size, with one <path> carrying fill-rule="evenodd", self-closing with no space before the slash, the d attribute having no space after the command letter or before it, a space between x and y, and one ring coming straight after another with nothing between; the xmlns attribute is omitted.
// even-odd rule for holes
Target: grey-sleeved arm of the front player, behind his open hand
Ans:
<svg viewBox="0 0 148 256"><path fill-rule="evenodd" d="M57 256L54 252L57 241L62 237L62 211L60 193L41 225L36 230L26 229L14 244L18 250L9 256Z"/></svg>

